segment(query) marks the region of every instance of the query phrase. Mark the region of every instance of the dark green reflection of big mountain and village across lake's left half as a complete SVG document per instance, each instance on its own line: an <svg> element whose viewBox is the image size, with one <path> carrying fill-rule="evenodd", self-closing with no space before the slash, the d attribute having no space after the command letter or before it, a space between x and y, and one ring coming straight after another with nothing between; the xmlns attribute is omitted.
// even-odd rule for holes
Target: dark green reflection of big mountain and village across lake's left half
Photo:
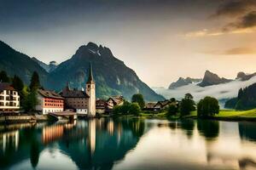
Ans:
<svg viewBox="0 0 256 170"><path fill-rule="evenodd" d="M5 129L0 133L0 144L4 146L0 148L0 169L22 161L29 168L37 167L42 151L56 145L80 169L111 169L114 161L124 158L136 146L144 133L144 122L92 119L43 127L26 125L15 131L9 131L8 126Z"/></svg>

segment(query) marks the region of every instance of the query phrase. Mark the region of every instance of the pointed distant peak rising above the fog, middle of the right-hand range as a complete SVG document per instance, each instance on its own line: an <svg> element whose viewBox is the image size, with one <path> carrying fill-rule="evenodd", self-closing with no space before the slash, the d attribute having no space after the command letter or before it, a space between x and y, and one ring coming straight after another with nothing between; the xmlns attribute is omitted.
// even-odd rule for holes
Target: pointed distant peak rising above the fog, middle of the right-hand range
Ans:
<svg viewBox="0 0 256 170"><path fill-rule="evenodd" d="M231 82L232 80L226 79L224 77L220 78L217 74L212 73L211 71L206 71L205 76L201 83L198 84L198 86L206 87L206 86L212 86L217 85L221 83Z"/></svg>

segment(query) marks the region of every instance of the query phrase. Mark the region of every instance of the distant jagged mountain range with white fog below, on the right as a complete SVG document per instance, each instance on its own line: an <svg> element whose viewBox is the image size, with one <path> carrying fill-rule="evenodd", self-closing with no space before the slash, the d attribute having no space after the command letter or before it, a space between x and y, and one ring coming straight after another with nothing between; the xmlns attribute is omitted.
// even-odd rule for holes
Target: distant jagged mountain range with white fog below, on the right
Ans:
<svg viewBox="0 0 256 170"><path fill-rule="evenodd" d="M182 78L177 82L172 82L168 89L153 88L158 94L162 94L166 99L172 97L182 99L184 94L190 93L194 96L195 101L199 101L205 96L217 98L224 107L225 101L237 96L240 88L246 88L256 82L256 73L246 74L239 72L235 79L220 78L211 71L206 71L201 78Z"/></svg>

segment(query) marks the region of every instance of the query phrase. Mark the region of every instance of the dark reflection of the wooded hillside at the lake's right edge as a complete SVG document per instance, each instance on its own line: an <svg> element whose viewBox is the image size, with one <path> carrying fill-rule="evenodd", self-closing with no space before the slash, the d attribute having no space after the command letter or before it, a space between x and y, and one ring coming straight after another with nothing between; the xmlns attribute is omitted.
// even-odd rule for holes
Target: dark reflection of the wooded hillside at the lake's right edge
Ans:
<svg viewBox="0 0 256 170"><path fill-rule="evenodd" d="M256 140L256 124L254 122L239 122L241 139Z"/></svg>

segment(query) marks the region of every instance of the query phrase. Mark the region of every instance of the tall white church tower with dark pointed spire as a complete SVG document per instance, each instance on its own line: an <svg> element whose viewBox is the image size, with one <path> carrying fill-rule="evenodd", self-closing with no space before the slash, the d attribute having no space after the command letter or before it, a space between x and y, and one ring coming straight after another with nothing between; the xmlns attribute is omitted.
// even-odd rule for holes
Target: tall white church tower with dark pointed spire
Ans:
<svg viewBox="0 0 256 170"><path fill-rule="evenodd" d="M88 116L96 116L96 88L92 75L92 66L90 63L89 78L86 82L86 94L90 96L88 102Z"/></svg>

